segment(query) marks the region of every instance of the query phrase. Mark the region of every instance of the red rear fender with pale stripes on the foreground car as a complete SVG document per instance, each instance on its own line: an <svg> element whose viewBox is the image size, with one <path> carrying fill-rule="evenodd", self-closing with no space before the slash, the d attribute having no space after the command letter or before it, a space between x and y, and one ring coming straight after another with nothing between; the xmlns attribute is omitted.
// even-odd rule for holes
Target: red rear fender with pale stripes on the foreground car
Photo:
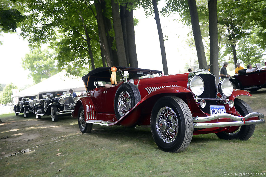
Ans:
<svg viewBox="0 0 266 177"><path fill-rule="evenodd" d="M92 99L90 97L82 97L80 98L75 106L73 118L78 118L78 110L80 109L80 106L83 106L84 109L84 116L85 120L95 120L97 119L97 114L95 111L95 106L92 102Z"/></svg>

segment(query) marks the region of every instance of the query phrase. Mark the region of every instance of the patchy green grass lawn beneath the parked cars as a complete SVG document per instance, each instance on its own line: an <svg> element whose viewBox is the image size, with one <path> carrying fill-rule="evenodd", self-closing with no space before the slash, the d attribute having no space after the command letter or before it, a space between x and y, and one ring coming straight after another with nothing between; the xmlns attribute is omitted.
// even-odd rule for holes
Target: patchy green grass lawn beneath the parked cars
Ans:
<svg viewBox="0 0 266 177"><path fill-rule="evenodd" d="M266 89L240 96L266 114ZM194 135L181 153L159 150L149 128L93 125L82 134L77 119L1 115L1 176L224 176L224 172L266 173L266 124L248 141ZM22 153L26 151L25 153ZM12 156L9 156L13 154Z"/></svg>

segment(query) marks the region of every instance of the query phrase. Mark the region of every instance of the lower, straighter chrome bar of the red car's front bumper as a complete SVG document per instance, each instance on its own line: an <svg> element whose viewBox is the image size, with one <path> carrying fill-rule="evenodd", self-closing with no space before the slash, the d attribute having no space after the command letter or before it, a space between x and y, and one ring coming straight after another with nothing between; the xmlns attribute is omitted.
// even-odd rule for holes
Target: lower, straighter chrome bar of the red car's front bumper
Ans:
<svg viewBox="0 0 266 177"><path fill-rule="evenodd" d="M194 128L213 128L213 127L229 127L229 126L243 126L251 124L262 124L265 123L265 120L248 120L244 123L242 121L236 122L215 122L215 123L193 123Z"/></svg>

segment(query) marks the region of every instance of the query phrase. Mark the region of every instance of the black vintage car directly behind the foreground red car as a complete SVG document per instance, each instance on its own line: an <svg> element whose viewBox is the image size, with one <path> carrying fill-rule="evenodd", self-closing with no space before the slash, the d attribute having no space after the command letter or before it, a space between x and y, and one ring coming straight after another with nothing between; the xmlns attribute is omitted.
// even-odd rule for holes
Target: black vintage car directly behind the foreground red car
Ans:
<svg viewBox="0 0 266 177"><path fill-rule="evenodd" d="M51 115L52 121L57 122L59 115L71 115L78 97L65 95L66 91L41 92L38 94L38 103L34 105L37 119L43 115Z"/></svg>

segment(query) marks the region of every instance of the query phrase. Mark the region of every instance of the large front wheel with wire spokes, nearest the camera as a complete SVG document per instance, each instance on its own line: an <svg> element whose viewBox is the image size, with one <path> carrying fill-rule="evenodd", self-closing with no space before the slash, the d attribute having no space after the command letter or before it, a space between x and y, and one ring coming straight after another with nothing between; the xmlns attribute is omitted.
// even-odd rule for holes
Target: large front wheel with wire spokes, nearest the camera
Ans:
<svg viewBox="0 0 266 177"><path fill-rule="evenodd" d="M167 118L165 114L169 114ZM188 105L174 96L157 100L151 112L151 133L159 149L173 153L185 150L193 136L193 119Z"/></svg>

